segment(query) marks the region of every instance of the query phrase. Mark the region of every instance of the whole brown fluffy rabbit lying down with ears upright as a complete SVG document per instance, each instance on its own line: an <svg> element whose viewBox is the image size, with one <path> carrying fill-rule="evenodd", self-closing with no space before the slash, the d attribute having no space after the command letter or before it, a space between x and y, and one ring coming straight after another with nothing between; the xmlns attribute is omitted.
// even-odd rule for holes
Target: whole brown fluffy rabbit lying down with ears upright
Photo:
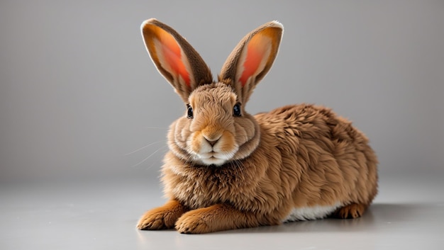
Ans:
<svg viewBox="0 0 444 250"><path fill-rule="evenodd" d="M151 18L146 49L182 98L162 166L167 203L137 228L201 234L326 217L360 217L377 194L377 157L367 137L329 108L299 104L250 115L256 84L277 57L283 25L240 40L218 80L179 33Z"/></svg>

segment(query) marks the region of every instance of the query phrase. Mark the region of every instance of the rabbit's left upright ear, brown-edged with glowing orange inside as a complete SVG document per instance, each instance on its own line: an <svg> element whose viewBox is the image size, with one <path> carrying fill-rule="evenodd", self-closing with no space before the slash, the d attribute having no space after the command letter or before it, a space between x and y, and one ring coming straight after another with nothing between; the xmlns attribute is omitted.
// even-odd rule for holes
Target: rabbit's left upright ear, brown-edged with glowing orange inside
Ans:
<svg viewBox="0 0 444 250"><path fill-rule="evenodd" d="M176 30L155 18L144 21L140 29L152 62L184 102L197 86L213 81L199 53Z"/></svg>

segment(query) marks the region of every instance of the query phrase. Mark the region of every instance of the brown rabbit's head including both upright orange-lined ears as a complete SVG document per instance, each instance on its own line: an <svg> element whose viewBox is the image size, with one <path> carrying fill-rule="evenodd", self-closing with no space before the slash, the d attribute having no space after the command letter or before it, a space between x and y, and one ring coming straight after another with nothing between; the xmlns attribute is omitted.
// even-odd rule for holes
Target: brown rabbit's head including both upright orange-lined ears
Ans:
<svg viewBox="0 0 444 250"><path fill-rule="evenodd" d="M184 101L185 114L170 127L170 150L182 161L220 166L244 159L260 142L260 127L245 112L256 84L272 67L282 25L265 23L240 40L218 81L187 40L155 19L143 22L143 40L160 74Z"/></svg>

